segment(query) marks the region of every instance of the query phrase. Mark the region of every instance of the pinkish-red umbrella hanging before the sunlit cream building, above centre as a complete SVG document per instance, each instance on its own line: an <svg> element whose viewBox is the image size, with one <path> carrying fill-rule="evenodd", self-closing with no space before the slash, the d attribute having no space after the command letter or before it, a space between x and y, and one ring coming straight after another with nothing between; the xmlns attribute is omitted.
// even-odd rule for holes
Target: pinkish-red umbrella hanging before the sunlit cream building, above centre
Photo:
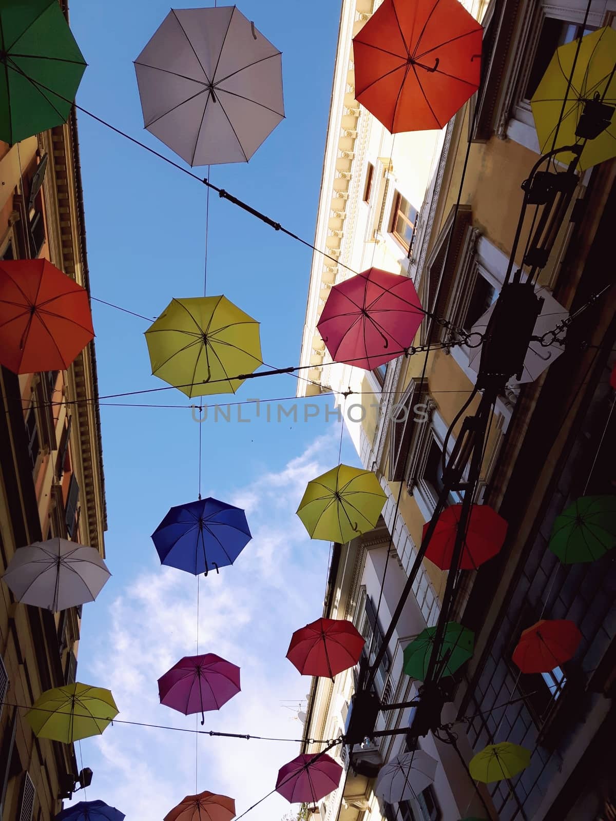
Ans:
<svg viewBox="0 0 616 821"><path fill-rule="evenodd" d="M333 286L316 327L334 362L372 370L413 344L423 318L408 277L369 268Z"/></svg>

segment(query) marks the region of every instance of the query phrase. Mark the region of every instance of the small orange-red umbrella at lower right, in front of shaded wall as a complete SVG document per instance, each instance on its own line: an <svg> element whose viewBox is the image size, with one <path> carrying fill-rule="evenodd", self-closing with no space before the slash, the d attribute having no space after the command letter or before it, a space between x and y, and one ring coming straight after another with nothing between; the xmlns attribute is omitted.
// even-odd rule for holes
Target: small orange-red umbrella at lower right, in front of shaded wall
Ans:
<svg viewBox="0 0 616 821"><path fill-rule="evenodd" d="M549 672L568 662L581 641L572 621L542 619L523 631L512 658L522 672Z"/></svg>

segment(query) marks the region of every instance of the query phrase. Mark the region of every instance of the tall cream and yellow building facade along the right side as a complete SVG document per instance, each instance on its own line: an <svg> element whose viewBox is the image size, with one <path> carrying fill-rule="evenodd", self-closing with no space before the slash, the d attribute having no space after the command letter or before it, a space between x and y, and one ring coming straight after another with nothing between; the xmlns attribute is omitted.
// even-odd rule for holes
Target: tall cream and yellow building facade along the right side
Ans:
<svg viewBox="0 0 616 821"><path fill-rule="evenodd" d="M362 153L361 135L379 133L382 126L354 103L352 64L349 51L342 50L350 39L344 39L344 25L352 21L355 33L377 6L378 2L374 8L342 3L315 241L330 255L333 250L341 264L335 266L319 254L313 259L301 364L312 365L310 379L320 387L302 384L298 389L334 392L362 464L375 471L387 494L379 569L373 562L374 547L365 556L352 545L341 548L357 557L356 577L361 580L357 584L365 585L374 604L372 620L366 617L382 635L398 602L394 587L388 597L388 585L394 585L391 576L399 576L398 585L403 584L443 488L444 450L451 453L463 416L472 414L479 401L473 395L476 373L465 334L503 286L522 206L522 181L539 158L529 100L555 48L575 39L585 16L585 30L614 26L616 7L611 0L591 2L588 9L582 0L567 0L558 7L541 0L468 5L485 29L479 94L441 133L384 137L389 140L387 148L380 143L377 154L385 158L380 167L386 170L377 172L371 170L378 167L370 160L374 154L370 149ZM355 112L354 154L342 173L337 140L347 139L350 121L341 116ZM416 163L416 145L403 140L429 138L431 153L426 150L423 161ZM370 146L370 136L366 144ZM417 164L421 179L416 178L413 190L408 179ZM610 270L600 263L609 259L615 172L611 160L578 175L540 272L539 286L576 314L563 353L534 382L508 383L494 405L476 502L490 504L508 521L508 539L499 556L479 571L462 571L457 586L455 620L476 636L473 658L457 676L453 702L446 705L442 717L457 736L460 755L432 734L419 739L379 738L375 750L356 751L365 759L372 757L373 777L392 754L417 744L439 762L433 787L412 805L379 806L371 791L372 778L363 776L357 782L359 776L352 768L346 786L325 808L321 806L324 821L336 819L338 813L349 821L379 814L392 821L610 817L616 774L611 757L602 759L599 750L607 749L606 739L614 727L614 560L608 554L594 563L565 566L547 544L554 518L575 498L614 495L616 488L614 459L609 456L614 454L616 435L614 389L609 386L616 338L614 271L613 266ZM384 185L375 187L381 173ZM339 179L343 182L336 184ZM341 200L344 218L333 207L339 203L330 200L332 185L334 190L347 186L347 196ZM394 198L400 195L417 209L410 212L406 256L391 253L398 248L398 227L403 222L398 219L398 200L388 199L391 189ZM366 190L368 208L362 200ZM375 234L371 233L372 209L379 215ZM522 253L514 262L522 264ZM417 345L430 342L434 351L400 357L380 372L368 374L332 364L316 323L331 284L352 275L343 266L361 271L371 264L411 277L424 308L442 321L433 323L431 330L430 323L422 323L417 335ZM450 503L459 501L455 492L450 495ZM363 538L370 541L370 534ZM414 692L412 681L401 672L402 649L425 626L436 623L446 575L428 560L422 562L413 594L388 644L389 666L375 679L381 700L388 704L404 702ZM330 574L329 596L334 603L338 597L344 599L345 584L344 578ZM352 606L335 612L352 618L361 629L364 616L357 603L361 595L350 595ZM364 608L366 612L372 604L367 611ZM574 621L582 631L582 644L562 669L526 677L513 664L513 648L522 630L540 618ZM306 739L334 737L335 711L347 704L352 691L350 673L345 681L337 678L331 696L331 682L315 683ZM409 713L408 708L385 710L377 728L403 729ZM315 732L315 727L321 732L327 722L332 728L329 734ZM512 781L476 790L462 759L467 764L485 745L501 741L531 750L531 766ZM370 770L367 765L364 769ZM342 796L355 795L355 789L363 797L359 803L351 800L345 805Z"/></svg>

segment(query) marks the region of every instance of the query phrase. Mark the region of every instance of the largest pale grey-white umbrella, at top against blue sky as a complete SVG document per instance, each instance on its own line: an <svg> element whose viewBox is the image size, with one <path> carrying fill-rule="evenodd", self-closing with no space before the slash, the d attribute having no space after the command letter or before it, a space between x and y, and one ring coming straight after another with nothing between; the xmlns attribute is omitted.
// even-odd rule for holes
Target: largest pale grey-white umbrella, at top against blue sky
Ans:
<svg viewBox="0 0 616 821"><path fill-rule="evenodd" d="M191 166L247 162L284 117L281 53L235 6L172 9L135 71L145 128Z"/></svg>

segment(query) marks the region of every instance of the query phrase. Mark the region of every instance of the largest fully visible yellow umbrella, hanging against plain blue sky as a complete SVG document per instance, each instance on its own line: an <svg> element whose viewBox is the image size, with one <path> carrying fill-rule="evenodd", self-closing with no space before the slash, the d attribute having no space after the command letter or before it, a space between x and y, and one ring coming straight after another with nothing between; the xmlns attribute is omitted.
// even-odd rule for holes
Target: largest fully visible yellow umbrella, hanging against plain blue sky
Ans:
<svg viewBox="0 0 616 821"><path fill-rule="evenodd" d="M263 364L259 323L224 296L171 300L145 339L154 376L188 397L235 393Z"/></svg>

